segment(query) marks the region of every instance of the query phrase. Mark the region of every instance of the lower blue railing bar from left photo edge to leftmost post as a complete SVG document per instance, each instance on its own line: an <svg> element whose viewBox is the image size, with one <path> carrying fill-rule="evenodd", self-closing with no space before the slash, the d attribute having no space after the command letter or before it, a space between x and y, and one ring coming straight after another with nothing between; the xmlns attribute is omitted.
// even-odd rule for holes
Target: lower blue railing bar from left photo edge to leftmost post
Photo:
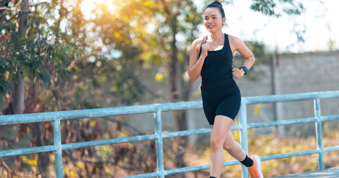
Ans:
<svg viewBox="0 0 339 178"><path fill-rule="evenodd" d="M14 150L3 150L3 151L0 151L0 157L11 156L11 155L21 155L21 154L28 154L28 153L40 153L40 152L56 151L56 150L58 150L58 147L56 145L43 146L43 147L32 147L32 148L21 148L21 149L14 149Z"/></svg>

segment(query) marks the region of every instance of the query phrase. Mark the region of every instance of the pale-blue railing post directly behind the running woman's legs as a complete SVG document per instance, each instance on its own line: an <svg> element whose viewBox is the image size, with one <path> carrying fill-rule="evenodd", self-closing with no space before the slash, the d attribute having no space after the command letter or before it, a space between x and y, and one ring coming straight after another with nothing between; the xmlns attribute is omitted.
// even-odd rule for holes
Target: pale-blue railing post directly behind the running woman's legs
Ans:
<svg viewBox="0 0 339 178"><path fill-rule="evenodd" d="M239 111L239 123L242 125L242 129L239 131L240 135L240 144L242 149L248 155L248 139L247 139L247 114L246 114L246 104L241 104ZM250 156L250 155L248 155ZM247 168L245 165L241 165L241 177L247 177Z"/></svg>

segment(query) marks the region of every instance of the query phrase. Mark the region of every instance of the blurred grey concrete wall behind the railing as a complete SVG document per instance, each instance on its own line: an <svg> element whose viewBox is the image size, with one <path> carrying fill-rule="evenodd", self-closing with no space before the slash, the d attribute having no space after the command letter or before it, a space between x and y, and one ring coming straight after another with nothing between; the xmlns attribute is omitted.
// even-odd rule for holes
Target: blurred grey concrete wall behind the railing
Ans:
<svg viewBox="0 0 339 178"><path fill-rule="evenodd" d="M242 79L235 79L240 88L242 96L262 96L272 94L293 94L303 92L339 90L339 51L335 52L310 52L298 54L280 54L273 56L273 65L257 66L256 70L262 70L265 75L258 82ZM242 65L240 60L234 59L234 66ZM274 67L273 67L274 66ZM154 97L145 93L144 100L140 104L167 103L168 82L164 80L155 82L154 76L158 68L163 66L152 66L147 69L140 69L140 80L152 91L161 94L163 98L154 102ZM164 66L165 67L165 66ZM249 71L251 72L251 70ZM201 95L194 92L201 85L201 77L193 82L190 101L201 100ZM195 94L194 94L195 93ZM339 98L321 100L321 114L339 114ZM296 119L314 117L313 101L286 102L278 104L264 104L262 112L254 114L255 105L247 106L248 123L263 122L266 120ZM131 125L139 130L154 132L154 116L152 114L138 114L128 117ZM238 122L238 116L235 119ZM172 112L162 113L163 130L173 131ZM332 127L338 127L338 121L331 121ZM188 111L188 129L209 128L202 109ZM280 129L281 134L295 136L299 131L301 136L315 134L314 124L300 124L285 126ZM257 133L270 133L272 129L258 128ZM198 138L198 135L191 136L191 140Z"/></svg>

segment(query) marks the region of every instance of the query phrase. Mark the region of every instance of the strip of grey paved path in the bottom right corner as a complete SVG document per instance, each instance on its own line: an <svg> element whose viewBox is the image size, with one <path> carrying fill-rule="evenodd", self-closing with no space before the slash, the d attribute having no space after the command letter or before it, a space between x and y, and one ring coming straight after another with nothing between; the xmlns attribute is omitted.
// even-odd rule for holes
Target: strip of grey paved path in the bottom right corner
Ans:
<svg viewBox="0 0 339 178"><path fill-rule="evenodd" d="M311 171L311 172L303 172L297 174L288 174L284 176L279 176L275 178L339 178L339 167L334 167L330 169L325 169L321 171Z"/></svg>

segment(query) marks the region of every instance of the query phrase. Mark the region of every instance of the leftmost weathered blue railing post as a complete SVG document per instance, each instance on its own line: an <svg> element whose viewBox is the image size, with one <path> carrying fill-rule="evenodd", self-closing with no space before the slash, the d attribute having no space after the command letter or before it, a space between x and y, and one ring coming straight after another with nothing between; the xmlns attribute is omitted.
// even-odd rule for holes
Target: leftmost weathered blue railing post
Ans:
<svg viewBox="0 0 339 178"><path fill-rule="evenodd" d="M53 135L54 144L58 147L58 150L54 151L56 178L63 178L60 119L53 121Z"/></svg>

